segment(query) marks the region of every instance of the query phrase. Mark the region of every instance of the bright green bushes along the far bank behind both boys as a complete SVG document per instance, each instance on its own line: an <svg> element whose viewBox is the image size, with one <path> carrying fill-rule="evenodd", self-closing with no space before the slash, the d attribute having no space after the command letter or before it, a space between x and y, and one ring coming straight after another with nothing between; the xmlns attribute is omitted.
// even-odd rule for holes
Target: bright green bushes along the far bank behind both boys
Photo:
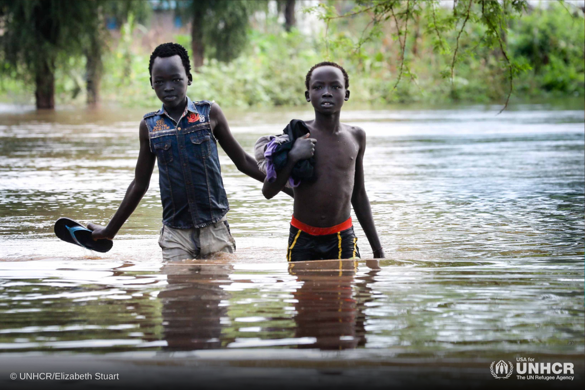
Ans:
<svg viewBox="0 0 585 390"><path fill-rule="evenodd" d="M352 4L339 2L336 11L351 12ZM466 11L468 4L465 1L458 6ZM328 59L346 68L351 100L364 104L503 104L510 91L510 64L514 67L512 99L516 101L585 95L585 28L579 9L552 3L546 9L528 9L519 18L505 19L507 29L498 30L498 34L505 31L501 39L510 63L499 44L494 47L498 41L490 41L489 27L484 23L468 21L462 27L464 19L453 19L452 9L435 4L433 10L434 15L430 8L412 14L406 39L397 33L394 18L380 23L373 36L364 39L371 28L372 14L367 12L331 20L326 40L325 31L307 36L295 29L286 33L281 26L256 23L248 29L248 43L234 60L221 62L209 58L217 56L206 55L204 65L193 74L188 93L194 99L215 99L226 107L304 105L305 73L313 64ZM481 9L472 10L473 18L481 18ZM397 22L404 29L399 15ZM266 23L277 22L267 18ZM149 107L160 104L149 85L150 52L136 44L145 30L136 28L132 18L122 26L119 39L104 56L102 100ZM190 48L190 34L176 35L174 40ZM355 49L356 44L360 44L359 50L348 49ZM453 61L455 47L458 53ZM407 66L397 82L402 58ZM57 101L71 101L73 80L82 78L84 66L83 57L70 57L67 71L57 70ZM519 72L521 69L526 71ZM7 78L1 82L5 94L13 95L22 85ZM77 101L81 102L82 95Z"/></svg>

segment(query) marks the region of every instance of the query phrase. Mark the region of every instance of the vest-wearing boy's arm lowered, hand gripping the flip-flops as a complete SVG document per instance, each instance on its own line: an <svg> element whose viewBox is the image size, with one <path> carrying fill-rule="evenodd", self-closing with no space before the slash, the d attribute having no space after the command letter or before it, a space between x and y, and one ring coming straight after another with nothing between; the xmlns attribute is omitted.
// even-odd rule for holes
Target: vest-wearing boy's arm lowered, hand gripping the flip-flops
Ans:
<svg viewBox="0 0 585 390"><path fill-rule="evenodd" d="M132 215L132 212L136 209L138 203L140 203L140 199L146 194L146 190L150 184L150 176L154 169L156 154L150 151L148 128L146 127L144 119L140 122L139 138L140 153L138 154L138 161L136 162L134 180L130 183L126 195L124 196L124 200L107 226L95 225L95 223L87 225L88 229L93 230L91 237L94 240L113 239L124 222L126 222L126 219Z"/></svg>

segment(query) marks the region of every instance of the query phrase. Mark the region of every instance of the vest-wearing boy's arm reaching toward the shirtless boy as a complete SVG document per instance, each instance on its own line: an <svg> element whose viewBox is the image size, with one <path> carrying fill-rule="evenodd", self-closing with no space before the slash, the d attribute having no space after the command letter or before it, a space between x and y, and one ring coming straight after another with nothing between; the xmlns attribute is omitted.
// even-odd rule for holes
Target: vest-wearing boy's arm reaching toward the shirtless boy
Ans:
<svg viewBox="0 0 585 390"><path fill-rule="evenodd" d="M211 105L209 121L211 122L211 131L214 133L215 138L219 141L225 153L228 154L228 157L236 164L238 171L257 181L264 181L266 174L258 169L256 158L247 154L233 137L232 132L229 130L228 120L223 115L223 111L217 103ZM283 192L292 196L292 190L290 188L284 188Z"/></svg>

